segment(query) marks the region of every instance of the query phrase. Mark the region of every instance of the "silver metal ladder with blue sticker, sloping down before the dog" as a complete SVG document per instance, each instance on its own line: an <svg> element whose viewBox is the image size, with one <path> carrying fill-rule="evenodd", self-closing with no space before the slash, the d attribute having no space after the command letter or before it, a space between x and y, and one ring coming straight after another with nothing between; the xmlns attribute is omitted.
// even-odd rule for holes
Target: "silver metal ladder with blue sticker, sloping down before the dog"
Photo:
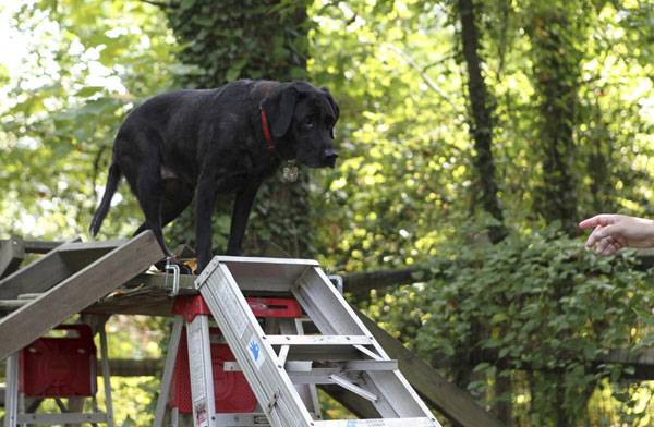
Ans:
<svg viewBox="0 0 654 427"><path fill-rule="evenodd" d="M217 256L195 286L274 427L440 427L315 260ZM318 334L266 334L242 291L291 293ZM208 337L191 358L195 425L218 427ZM202 354L202 356L201 356ZM372 403L377 418L314 419L298 385L337 385ZM211 398L209 398L211 396Z"/></svg>

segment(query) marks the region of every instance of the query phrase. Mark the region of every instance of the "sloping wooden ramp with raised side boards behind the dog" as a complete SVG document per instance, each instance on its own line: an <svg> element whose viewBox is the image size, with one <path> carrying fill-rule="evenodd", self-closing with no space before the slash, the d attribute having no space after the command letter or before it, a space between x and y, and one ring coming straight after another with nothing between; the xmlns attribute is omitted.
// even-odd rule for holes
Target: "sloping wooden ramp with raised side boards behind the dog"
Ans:
<svg viewBox="0 0 654 427"><path fill-rule="evenodd" d="M19 309L0 319L0 361L94 304L164 257L152 232L128 241L70 242L0 281ZM33 300L24 303L21 295Z"/></svg>

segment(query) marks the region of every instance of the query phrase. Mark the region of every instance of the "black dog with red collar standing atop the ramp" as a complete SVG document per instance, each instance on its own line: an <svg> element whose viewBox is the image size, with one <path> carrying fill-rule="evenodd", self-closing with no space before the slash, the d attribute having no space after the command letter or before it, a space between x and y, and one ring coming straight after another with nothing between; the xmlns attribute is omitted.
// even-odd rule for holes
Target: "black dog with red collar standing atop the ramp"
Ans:
<svg viewBox="0 0 654 427"><path fill-rule="evenodd" d="M102 200L90 223L96 235L124 175L145 213L134 235L152 230L166 256L161 228L196 192L197 269L211 258L216 196L235 193L228 255L240 255L256 192L282 160L334 168L339 108L327 88L306 82L238 81L217 89L155 96L130 113L113 143Z"/></svg>

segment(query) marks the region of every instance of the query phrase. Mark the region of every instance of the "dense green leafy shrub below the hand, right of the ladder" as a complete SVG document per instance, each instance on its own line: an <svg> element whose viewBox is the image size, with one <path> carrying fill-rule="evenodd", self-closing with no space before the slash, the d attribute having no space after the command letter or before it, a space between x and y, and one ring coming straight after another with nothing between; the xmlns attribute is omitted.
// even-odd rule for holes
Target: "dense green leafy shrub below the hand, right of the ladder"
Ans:
<svg viewBox="0 0 654 427"><path fill-rule="evenodd" d="M513 401L519 425L589 422L600 379L621 374L593 361L634 344L639 325L645 330L634 310L651 306L652 277L634 270L632 253L598 258L554 224L495 246L451 241L439 254L451 265L436 264L436 279L384 296L371 313L455 379L472 363L476 375L460 386L487 404ZM496 376L512 378L512 394L495 393Z"/></svg>

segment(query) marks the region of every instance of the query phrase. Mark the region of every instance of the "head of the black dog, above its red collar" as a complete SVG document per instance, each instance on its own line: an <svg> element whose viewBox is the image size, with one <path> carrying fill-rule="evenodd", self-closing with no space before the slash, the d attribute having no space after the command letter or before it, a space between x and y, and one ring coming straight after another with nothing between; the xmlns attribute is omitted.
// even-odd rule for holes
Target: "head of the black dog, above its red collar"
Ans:
<svg viewBox="0 0 654 427"><path fill-rule="evenodd" d="M296 158L311 168L334 168L334 125L339 109L326 87L310 83L282 83L268 94L262 107L272 139L283 157Z"/></svg>

